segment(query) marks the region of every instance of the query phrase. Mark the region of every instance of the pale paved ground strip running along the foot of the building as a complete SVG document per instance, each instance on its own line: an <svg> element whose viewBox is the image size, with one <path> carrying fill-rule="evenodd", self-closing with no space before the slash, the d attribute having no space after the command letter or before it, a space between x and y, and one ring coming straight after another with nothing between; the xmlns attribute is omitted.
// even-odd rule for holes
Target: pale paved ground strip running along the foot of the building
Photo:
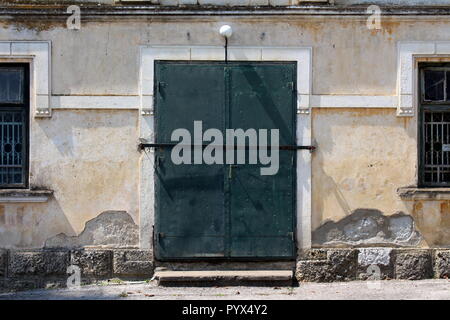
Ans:
<svg viewBox="0 0 450 320"><path fill-rule="evenodd" d="M235 299L446 299L450 280L306 283L287 287L158 287L156 283L90 285L79 289L33 290L0 294L3 299L148 299L148 300L235 300Z"/></svg>

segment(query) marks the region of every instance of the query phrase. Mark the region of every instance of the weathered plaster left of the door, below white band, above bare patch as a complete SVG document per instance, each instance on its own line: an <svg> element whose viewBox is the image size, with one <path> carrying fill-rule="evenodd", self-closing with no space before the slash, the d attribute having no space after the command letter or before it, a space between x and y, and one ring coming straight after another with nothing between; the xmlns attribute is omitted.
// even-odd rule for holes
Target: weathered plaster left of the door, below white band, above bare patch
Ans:
<svg viewBox="0 0 450 320"><path fill-rule="evenodd" d="M104 211L136 224L136 111L54 111L31 124L31 187L54 190L47 203L0 204L0 247L42 247L59 233L80 234Z"/></svg>

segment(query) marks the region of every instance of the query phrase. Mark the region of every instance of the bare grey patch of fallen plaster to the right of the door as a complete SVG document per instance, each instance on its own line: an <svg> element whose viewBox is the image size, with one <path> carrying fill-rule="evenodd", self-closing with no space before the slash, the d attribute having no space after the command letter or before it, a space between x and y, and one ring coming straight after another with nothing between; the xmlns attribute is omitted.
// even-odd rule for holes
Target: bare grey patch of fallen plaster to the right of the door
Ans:
<svg viewBox="0 0 450 320"><path fill-rule="evenodd" d="M403 212L385 216L379 210L357 209L337 221L328 221L312 234L313 245L395 245L417 246L422 235L414 220Z"/></svg>

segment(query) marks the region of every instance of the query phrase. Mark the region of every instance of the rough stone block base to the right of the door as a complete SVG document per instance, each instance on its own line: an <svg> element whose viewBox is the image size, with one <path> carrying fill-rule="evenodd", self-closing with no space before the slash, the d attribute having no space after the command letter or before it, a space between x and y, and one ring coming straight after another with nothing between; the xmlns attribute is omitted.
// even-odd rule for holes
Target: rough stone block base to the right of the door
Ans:
<svg viewBox="0 0 450 320"><path fill-rule="evenodd" d="M449 249L310 249L297 262L299 282L448 278Z"/></svg>

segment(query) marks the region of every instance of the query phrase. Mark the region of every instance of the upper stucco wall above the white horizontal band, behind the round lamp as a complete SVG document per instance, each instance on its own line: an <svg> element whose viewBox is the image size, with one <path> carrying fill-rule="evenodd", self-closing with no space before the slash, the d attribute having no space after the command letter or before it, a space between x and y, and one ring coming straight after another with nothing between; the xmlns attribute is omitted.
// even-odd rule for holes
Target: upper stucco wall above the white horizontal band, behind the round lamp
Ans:
<svg viewBox="0 0 450 320"><path fill-rule="evenodd" d="M397 42L445 41L449 27L445 19L431 17L383 17L382 30L367 29L365 17L153 20L82 20L81 30L67 30L64 23L10 23L0 29L0 38L52 41L56 95L136 95L140 45L220 46L224 23L234 30L230 46L311 46L313 94L395 95Z"/></svg>

